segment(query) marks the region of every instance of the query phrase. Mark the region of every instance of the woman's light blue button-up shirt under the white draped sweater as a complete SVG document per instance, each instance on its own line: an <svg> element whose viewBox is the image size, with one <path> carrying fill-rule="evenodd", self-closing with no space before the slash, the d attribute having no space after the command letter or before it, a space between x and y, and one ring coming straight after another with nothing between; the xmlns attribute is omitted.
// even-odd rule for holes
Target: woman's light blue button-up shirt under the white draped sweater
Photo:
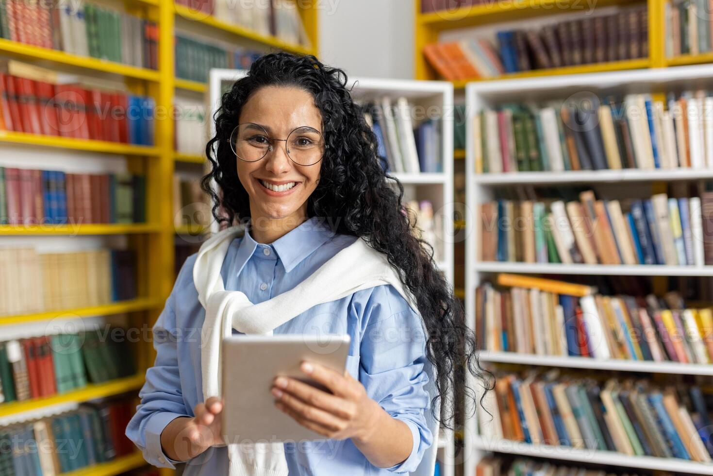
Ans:
<svg viewBox="0 0 713 476"><path fill-rule="evenodd" d="M294 288L355 239L334 234L319 218L310 218L270 245L245 233L233 240L225 255L221 270L225 289L240 290L252 303L262 303ZM193 284L193 263L195 255L183 265L153 327L156 360L146 371L140 405L126 428L145 460L159 467L173 468L178 463L161 449L163 428L176 417L193 417L193 408L202 402L200 328L205 310ZM414 442L404 462L386 469L371 465L349 439L286 443L289 475L387 475L416 470L434 440L426 422L431 411L424 370L426 341L421 318L391 285L316 305L274 332L349 334L347 370L372 400L409 426ZM272 395L266 392L265 398ZM183 474L227 475L227 463L227 448L211 447L188 461Z"/></svg>

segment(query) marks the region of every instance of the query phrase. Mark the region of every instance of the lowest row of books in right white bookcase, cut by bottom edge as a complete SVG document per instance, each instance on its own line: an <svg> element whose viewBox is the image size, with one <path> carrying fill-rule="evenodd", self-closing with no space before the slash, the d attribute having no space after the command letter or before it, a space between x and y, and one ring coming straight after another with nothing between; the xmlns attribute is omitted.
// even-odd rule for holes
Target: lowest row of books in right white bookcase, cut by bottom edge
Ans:
<svg viewBox="0 0 713 476"><path fill-rule="evenodd" d="M507 458L502 456L486 456L478 461L477 476L673 476L672 472L665 471L640 471L622 467L588 467L581 465L565 464L549 460L534 460L533 458Z"/></svg>

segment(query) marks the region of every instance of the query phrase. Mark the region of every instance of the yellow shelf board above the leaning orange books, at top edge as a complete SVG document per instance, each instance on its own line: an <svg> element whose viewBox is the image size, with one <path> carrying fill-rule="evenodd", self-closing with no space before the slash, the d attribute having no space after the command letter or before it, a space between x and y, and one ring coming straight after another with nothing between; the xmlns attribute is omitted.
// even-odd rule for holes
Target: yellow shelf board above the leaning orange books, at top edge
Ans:
<svg viewBox="0 0 713 476"><path fill-rule="evenodd" d="M622 0L600 0L597 8L608 5L626 3ZM433 11L419 14L417 23L429 26L436 31L452 30L493 24L498 21L512 21L518 18L552 15L557 13L573 13L582 11L583 4L577 0L486 0L479 5L468 5L457 9ZM584 12L583 12L584 14Z"/></svg>

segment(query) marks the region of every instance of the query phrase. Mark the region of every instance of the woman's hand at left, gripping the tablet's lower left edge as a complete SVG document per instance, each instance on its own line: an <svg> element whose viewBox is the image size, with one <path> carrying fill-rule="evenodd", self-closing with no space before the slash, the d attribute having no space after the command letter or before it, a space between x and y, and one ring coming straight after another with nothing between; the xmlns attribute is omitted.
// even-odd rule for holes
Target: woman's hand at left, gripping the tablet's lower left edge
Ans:
<svg viewBox="0 0 713 476"><path fill-rule="evenodd" d="M161 432L161 446L172 460L185 461L200 455L214 445L223 443L220 435L222 401L210 397L205 403L195 405L195 417L179 417Z"/></svg>

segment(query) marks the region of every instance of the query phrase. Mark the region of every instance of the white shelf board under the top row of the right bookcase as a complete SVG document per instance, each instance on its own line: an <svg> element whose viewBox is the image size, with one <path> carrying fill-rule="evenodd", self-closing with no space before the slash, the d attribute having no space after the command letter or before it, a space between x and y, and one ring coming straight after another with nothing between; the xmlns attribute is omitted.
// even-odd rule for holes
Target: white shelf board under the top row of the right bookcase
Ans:
<svg viewBox="0 0 713 476"><path fill-rule="evenodd" d="M511 173L476 173L473 181L481 185L517 185L532 183L607 183L607 182L645 182L679 181L713 178L711 169L673 168L641 170L624 168L621 170L601 171L563 171L563 172L511 172Z"/></svg>

